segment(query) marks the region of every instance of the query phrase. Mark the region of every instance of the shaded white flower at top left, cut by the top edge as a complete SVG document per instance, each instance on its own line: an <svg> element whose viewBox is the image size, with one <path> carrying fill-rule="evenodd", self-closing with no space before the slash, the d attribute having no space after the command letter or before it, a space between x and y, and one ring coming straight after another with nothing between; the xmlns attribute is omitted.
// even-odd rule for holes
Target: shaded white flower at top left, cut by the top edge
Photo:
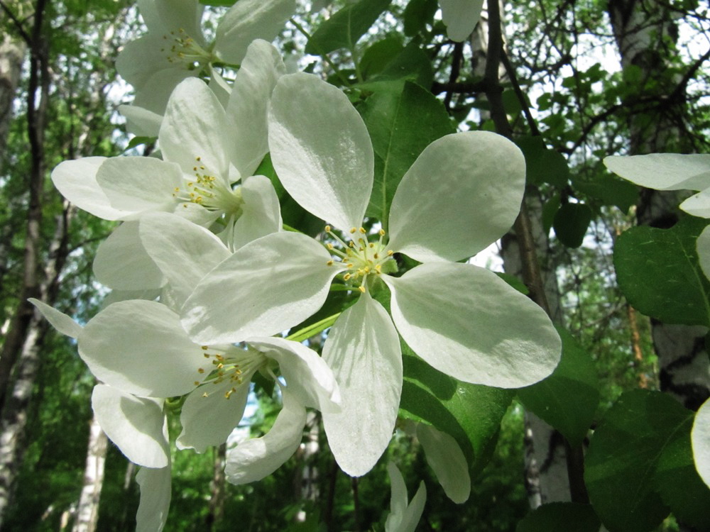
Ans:
<svg viewBox="0 0 710 532"><path fill-rule="evenodd" d="M136 89L133 104L163 114L168 96L187 77L213 62L239 64L254 39L272 40L295 11L295 0L241 0L222 17L217 38L208 44L197 0L139 0L148 27L143 37L126 44L116 69Z"/></svg>

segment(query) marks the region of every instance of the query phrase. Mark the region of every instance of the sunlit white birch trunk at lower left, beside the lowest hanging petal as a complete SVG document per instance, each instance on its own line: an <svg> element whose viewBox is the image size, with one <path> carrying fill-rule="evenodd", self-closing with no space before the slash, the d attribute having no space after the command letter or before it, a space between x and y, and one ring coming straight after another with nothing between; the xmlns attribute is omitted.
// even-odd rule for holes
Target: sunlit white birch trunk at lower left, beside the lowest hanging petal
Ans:
<svg viewBox="0 0 710 532"><path fill-rule="evenodd" d="M79 498L77 519L72 532L94 532L99 521L99 499L104 486L104 464L108 440L96 416L89 429L89 449L84 467L84 488Z"/></svg>

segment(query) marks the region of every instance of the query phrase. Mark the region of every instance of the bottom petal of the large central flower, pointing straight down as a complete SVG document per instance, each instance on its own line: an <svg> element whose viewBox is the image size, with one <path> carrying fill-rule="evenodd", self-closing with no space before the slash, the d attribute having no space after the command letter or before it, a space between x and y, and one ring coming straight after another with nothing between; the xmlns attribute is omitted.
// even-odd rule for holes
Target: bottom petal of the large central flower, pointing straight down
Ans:
<svg viewBox="0 0 710 532"><path fill-rule="evenodd" d="M343 312L323 348L340 386L340 414L323 413L340 468L359 477L372 469L392 438L402 393L399 336L369 294Z"/></svg>

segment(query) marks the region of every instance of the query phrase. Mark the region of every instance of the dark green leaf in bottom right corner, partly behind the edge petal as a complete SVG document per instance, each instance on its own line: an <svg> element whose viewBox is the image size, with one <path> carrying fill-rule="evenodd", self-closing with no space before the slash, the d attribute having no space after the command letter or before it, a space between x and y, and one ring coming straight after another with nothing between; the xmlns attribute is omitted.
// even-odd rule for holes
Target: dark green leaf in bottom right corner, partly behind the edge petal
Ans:
<svg viewBox="0 0 710 532"><path fill-rule="evenodd" d="M695 469L690 431L692 414L663 450L656 468L661 498L674 516L698 530L710 530L710 488Z"/></svg>

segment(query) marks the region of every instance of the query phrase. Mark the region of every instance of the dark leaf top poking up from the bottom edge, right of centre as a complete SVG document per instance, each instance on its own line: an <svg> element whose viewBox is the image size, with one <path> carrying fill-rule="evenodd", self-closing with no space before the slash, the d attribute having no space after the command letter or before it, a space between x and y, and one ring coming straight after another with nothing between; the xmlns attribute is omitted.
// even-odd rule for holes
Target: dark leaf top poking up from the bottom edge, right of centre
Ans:
<svg viewBox="0 0 710 532"><path fill-rule="evenodd" d="M599 517L589 504L551 502L525 516L515 532L599 532L599 526Z"/></svg>

